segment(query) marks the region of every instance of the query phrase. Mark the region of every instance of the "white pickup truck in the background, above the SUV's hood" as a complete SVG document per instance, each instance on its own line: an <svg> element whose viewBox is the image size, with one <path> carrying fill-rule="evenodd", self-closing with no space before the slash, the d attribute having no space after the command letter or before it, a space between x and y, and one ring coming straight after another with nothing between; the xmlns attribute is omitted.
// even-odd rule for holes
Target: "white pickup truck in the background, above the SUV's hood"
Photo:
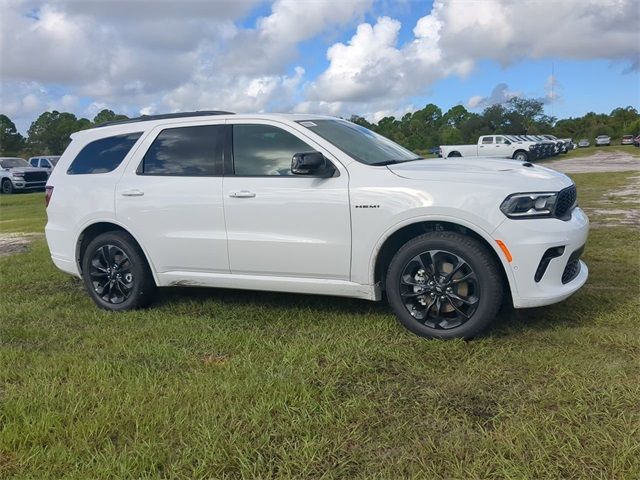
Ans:
<svg viewBox="0 0 640 480"><path fill-rule="evenodd" d="M440 156L447 157L501 157L526 162L535 160L534 142L515 141L505 135L482 135L476 145L441 145Z"/></svg>

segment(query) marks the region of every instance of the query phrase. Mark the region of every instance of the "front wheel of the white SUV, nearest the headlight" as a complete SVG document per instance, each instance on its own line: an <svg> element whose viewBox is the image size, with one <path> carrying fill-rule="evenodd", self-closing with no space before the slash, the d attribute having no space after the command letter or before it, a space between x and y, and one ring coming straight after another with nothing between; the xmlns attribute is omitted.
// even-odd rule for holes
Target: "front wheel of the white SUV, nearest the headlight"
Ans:
<svg viewBox="0 0 640 480"><path fill-rule="evenodd" d="M429 255L427 261L416 261L416 258L423 259L422 255ZM427 266L434 257L431 265L439 264L435 274L432 266ZM456 270L454 261L458 265L462 261L465 265ZM447 264L451 265L451 270L437 274L438 270L445 270L442 267ZM422 269L421 280L406 274L412 268L418 268L416 275L420 275ZM449 283L443 280L447 274L452 277ZM465 278L469 280L464 281ZM418 283L406 283L414 280ZM430 286L432 283L435 286ZM446 293L445 286L449 284L446 292L451 293ZM430 232L410 240L395 254L387 271L385 287L391 309L411 332L427 338L468 339L479 335L494 320L502 305L504 286L499 266L483 244L456 232ZM465 294L461 293L463 287ZM424 294L418 297L416 291ZM474 299L473 304L463 303L471 303ZM432 302L437 303L435 315L436 304Z"/></svg>

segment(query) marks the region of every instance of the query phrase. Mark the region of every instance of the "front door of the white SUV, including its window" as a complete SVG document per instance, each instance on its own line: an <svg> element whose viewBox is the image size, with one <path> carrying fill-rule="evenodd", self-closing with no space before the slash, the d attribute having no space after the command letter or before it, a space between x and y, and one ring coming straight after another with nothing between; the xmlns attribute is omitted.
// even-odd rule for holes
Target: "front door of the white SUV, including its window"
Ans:
<svg viewBox="0 0 640 480"><path fill-rule="evenodd" d="M349 280L349 178L291 173L295 153L328 152L277 122L235 121L224 178L231 273Z"/></svg>

